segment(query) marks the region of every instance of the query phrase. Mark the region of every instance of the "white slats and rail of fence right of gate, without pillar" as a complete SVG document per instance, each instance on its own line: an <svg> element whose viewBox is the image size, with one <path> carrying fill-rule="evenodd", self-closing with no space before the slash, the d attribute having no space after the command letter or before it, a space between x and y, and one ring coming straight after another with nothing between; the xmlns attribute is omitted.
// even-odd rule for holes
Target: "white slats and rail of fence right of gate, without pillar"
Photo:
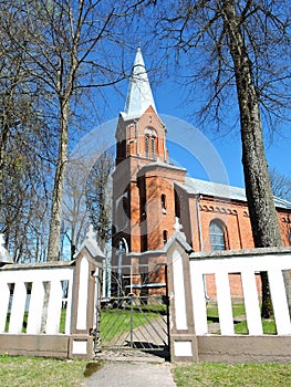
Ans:
<svg viewBox="0 0 291 387"><path fill-rule="evenodd" d="M190 259L193 310L197 335L208 334L204 275L215 274L221 335L235 335L229 274L241 275L243 303L249 335L263 335L256 273L267 272L274 312L277 335L291 335L291 323L283 281L291 270L291 254L247 254L215 259Z"/></svg>

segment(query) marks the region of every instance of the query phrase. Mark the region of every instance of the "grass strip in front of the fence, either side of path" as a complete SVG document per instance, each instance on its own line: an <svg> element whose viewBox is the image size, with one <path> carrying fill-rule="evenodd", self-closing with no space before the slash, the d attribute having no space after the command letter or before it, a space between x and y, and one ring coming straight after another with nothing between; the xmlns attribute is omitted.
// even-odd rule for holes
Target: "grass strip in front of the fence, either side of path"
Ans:
<svg viewBox="0 0 291 387"><path fill-rule="evenodd" d="M0 356L1 387L80 387L98 366L91 360ZM291 365L200 363L174 365L173 374L178 387L291 386Z"/></svg>

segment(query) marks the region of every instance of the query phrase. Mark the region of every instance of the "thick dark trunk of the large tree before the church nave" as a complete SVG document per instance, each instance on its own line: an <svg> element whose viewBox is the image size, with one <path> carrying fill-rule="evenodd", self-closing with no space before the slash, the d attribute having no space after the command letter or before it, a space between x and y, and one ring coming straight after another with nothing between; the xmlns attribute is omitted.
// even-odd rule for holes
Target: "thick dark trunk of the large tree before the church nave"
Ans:
<svg viewBox="0 0 291 387"><path fill-rule="evenodd" d="M240 30L240 19L236 13L233 0L224 1L222 15L235 65L240 109L242 164L254 247L280 247L282 239L266 160L252 63ZM269 318L273 312L266 272L261 273L261 281L262 316Z"/></svg>

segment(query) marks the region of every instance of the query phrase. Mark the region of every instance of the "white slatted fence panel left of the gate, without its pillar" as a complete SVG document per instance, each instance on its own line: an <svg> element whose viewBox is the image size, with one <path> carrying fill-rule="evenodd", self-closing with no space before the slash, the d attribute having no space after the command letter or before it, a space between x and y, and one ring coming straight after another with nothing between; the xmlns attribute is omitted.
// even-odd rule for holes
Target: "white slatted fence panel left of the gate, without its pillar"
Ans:
<svg viewBox="0 0 291 387"><path fill-rule="evenodd" d="M45 266L45 264L43 264ZM60 268L35 268L3 270L0 272L0 333L59 334L61 312L65 308L65 334L70 334L72 311L72 287L74 266L62 264ZM64 284L67 294L64 294ZM44 332L41 332L45 285L50 287L50 299L45 316ZM24 313L27 322L24 324Z"/></svg>

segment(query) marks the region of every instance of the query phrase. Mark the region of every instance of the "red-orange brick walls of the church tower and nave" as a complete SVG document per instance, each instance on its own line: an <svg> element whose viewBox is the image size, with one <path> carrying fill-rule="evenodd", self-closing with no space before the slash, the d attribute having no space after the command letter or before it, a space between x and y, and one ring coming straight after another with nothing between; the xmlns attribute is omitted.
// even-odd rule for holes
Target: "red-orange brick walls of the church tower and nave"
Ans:
<svg viewBox="0 0 291 387"><path fill-rule="evenodd" d="M155 155L153 155L152 139L146 149L147 135L150 138L155 137ZM198 198L197 195L189 195L181 188L186 170L166 164L165 127L152 106L137 121L124 122L121 116L116 138L118 142L116 164L121 172L116 172L113 179L113 202L123 195L124 190L127 190L129 212L127 227L123 228L123 233L115 236L114 245L121 237L125 237L132 252L163 249L165 239L168 240L174 233L175 216L178 212L187 242L196 252L211 251L209 227L214 220L224 226L227 250L253 248L246 202L205 196ZM148 154L147 150L149 150ZM117 176L119 176L118 179ZM179 210L177 210L177 201ZM113 208L115 209L115 206ZM118 216L113 215L116 224ZM278 218L283 243L289 245L290 213L278 210ZM233 296L240 296L240 278L230 275L230 284ZM260 286L259 278L258 286ZM209 295L215 296L216 290L211 276L207 279L207 289Z"/></svg>

